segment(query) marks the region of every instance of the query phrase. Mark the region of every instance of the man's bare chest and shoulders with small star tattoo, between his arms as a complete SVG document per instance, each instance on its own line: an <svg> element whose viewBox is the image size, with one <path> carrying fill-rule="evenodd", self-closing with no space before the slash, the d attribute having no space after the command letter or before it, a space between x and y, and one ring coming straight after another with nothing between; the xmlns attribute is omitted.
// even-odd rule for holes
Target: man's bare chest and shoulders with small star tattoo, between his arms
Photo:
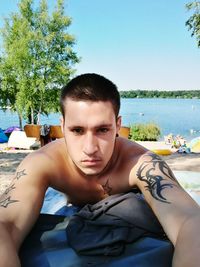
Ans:
<svg viewBox="0 0 200 267"><path fill-rule="evenodd" d="M68 201L76 205L96 203L108 195L130 191L134 187L130 181L131 172L146 150L122 138L117 139L116 147L114 160L108 163L105 171L85 176L70 161L64 139L45 146L41 152L53 161L47 175L49 186L65 193Z"/></svg>

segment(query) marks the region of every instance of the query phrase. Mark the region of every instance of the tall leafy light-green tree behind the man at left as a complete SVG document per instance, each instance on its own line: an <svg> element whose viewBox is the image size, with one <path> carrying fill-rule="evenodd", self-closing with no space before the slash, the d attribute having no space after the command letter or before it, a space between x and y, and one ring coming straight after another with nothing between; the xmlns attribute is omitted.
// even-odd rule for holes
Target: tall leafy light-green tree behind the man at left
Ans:
<svg viewBox="0 0 200 267"><path fill-rule="evenodd" d="M21 0L19 12L5 19L0 104L9 105L29 123L59 110L60 88L75 72L79 58L73 51L70 25L64 0L56 1L51 14L45 0L36 8L34 0Z"/></svg>

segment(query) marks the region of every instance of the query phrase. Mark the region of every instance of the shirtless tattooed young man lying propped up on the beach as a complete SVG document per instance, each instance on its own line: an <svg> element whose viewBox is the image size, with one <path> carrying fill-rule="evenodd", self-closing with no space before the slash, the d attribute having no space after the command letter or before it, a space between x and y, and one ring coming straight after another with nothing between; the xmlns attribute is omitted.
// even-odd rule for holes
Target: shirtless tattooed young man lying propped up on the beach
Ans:
<svg viewBox="0 0 200 267"><path fill-rule="evenodd" d="M157 155L117 137L119 107L116 86L100 75L78 76L63 88L64 138L28 155L0 199L1 267L20 266L17 252L49 186L76 205L138 187L175 246L173 266L199 266L199 206Z"/></svg>

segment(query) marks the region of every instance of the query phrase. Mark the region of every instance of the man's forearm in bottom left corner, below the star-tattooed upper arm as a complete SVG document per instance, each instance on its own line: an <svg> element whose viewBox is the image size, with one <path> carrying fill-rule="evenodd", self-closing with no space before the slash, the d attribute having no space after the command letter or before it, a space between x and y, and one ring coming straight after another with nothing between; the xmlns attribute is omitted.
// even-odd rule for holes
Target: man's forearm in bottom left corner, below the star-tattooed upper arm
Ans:
<svg viewBox="0 0 200 267"><path fill-rule="evenodd" d="M0 261L1 267L20 267L20 261L11 235L4 224L0 223Z"/></svg>

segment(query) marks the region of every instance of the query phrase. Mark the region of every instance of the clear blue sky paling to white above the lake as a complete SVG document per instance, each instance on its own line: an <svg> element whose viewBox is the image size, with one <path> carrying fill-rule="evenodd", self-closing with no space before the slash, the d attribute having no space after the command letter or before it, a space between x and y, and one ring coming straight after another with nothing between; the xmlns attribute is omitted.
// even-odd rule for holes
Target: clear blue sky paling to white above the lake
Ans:
<svg viewBox="0 0 200 267"><path fill-rule="evenodd" d="M2 17L17 0L1 0ZM200 48L185 27L185 0L68 0L69 30L81 63L77 74L96 72L119 90L200 90ZM49 0L54 6L56 0Z"/></svg>

